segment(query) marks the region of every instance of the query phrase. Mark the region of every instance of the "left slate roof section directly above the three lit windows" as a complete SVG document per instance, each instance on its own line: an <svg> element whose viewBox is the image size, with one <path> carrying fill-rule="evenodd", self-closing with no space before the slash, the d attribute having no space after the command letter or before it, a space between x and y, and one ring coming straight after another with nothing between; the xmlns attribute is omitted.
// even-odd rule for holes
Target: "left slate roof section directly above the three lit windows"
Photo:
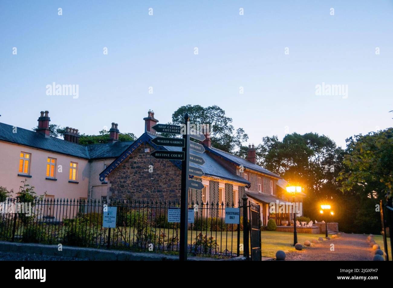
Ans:
<svg viewBox="0 0 393 288"><path fill-rule="evenodd" d="M86 146L55 137L45 137L43 134L24 128L16 128L17 132L13 133L13 126L0 123L0 140L59 154L90 159Z"/></svg>

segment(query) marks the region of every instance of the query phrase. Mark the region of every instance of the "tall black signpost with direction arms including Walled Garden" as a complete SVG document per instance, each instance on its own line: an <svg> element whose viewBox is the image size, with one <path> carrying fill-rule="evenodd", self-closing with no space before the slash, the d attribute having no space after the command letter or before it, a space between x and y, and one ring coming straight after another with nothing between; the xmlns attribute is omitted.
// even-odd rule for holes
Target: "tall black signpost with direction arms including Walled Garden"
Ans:
<svg viewBox="0 0 393 288"><path fill-rule="evenodd" d="M189 163L203 165L205 160L197 155L190 154L190 150L203 153L205 147L196 142L190 141L190 137L199 141L204 141L205 136L195 129L190 129L189 115L184 115L185 131L179 125L156 124L152 128L157 132L169 134L183 134L183 138L157 137L151 140L158 146L182 147L182 151L155 150L150 155L157 159L181 160L182 161L182 185L180 197L180 253L181 261L187 260L187 230L188 230L188 189L202 190L202 182L189 179L189 175L202 177L205 173L202 169L192 167ZM184 132L184 133L182 133Z"/></svg>

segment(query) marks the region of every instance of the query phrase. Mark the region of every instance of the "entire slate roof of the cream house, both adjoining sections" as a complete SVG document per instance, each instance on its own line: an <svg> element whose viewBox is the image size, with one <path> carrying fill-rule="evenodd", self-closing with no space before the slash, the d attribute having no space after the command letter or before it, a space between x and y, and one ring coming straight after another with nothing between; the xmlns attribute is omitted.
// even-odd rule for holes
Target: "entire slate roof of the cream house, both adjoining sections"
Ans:
<svg viewBox="0 0 393 288"><path fill-rule="evenodd" d="M0 140L85 159L117 158L134 143L124 141L84 146L55 137L45 137L43 134L20 127L17 127L16 131L17 133L13 133L13 126L0 123Z"/></svg>

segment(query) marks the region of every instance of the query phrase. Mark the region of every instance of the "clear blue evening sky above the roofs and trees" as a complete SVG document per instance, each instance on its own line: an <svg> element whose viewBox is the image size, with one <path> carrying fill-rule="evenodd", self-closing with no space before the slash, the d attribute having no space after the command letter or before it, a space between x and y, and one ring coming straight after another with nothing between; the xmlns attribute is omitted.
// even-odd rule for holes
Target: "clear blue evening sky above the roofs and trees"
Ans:
<svg viewBox="0 0 393 288"><path fill-rule="evenodd" d="M140 136L149 109L167 123L218 105L249 143L312 131L344 145L392 126L392 70L392 1L0 1L0 122L23 128L49 110L81 134ZM79 97L46 95L53 82ZM316 95L322 83L347 97Z"/></svg>

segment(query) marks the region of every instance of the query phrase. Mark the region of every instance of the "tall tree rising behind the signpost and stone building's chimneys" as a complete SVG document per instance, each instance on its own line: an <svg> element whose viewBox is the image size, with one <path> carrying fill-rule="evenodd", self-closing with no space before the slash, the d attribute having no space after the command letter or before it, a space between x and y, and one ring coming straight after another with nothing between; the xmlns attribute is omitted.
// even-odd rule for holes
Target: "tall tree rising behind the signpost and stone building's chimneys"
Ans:
<svg viewBox="0 0 393 288"><path fill-rule="evenodd" d="M186 105L179 107L172 115L172 123L181 125L184 123L184 114L190 116L190 123L195 125L208 124L210 129L211 146L234 153L241 149L242 142L248 140L248 135L242 128L235 130L232 118L225 116L225 111L219 106L213 105L206 108L200 105Z"/></svg>

